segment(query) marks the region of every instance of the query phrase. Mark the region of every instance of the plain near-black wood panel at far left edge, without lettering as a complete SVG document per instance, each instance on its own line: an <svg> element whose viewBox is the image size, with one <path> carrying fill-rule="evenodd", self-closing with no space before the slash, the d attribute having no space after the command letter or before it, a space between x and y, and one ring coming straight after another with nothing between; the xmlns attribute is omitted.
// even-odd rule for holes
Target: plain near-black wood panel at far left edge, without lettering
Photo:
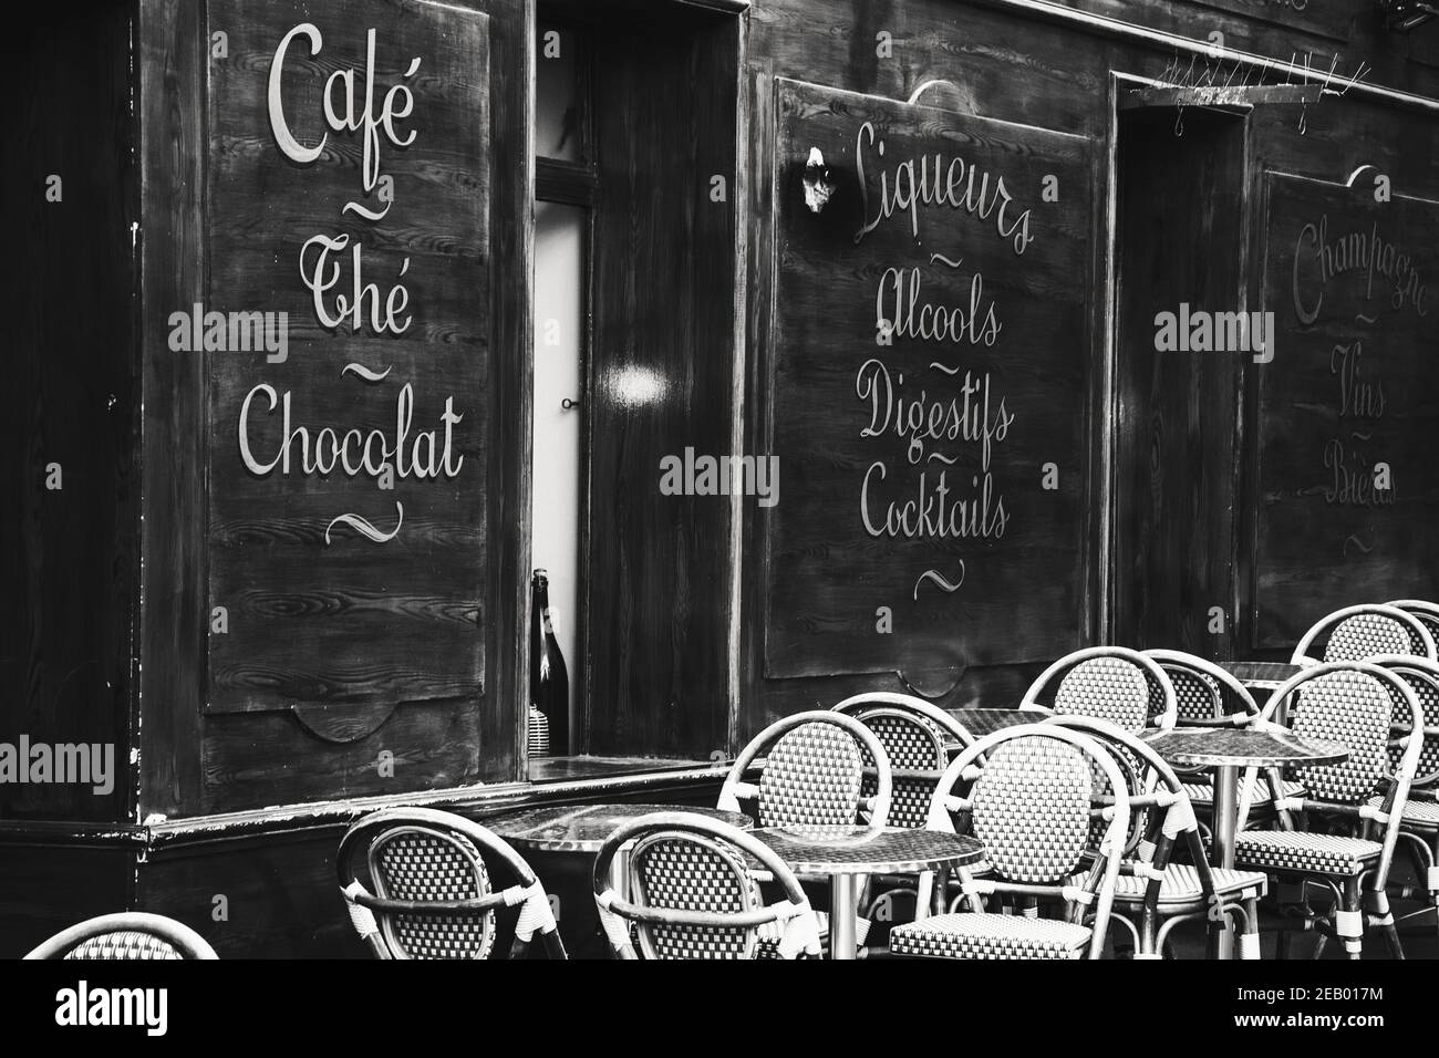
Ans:
<svg viewBox="0 0 1439 1058"><path fill-rule="evenodd" d="M3 134L0 744L108 747L114 769L102 795L7 776L0 818L114 822L132 800L124 769L140 386L128 19L127 4L66 4L32 12L4 42L23 88Z"/></svg>

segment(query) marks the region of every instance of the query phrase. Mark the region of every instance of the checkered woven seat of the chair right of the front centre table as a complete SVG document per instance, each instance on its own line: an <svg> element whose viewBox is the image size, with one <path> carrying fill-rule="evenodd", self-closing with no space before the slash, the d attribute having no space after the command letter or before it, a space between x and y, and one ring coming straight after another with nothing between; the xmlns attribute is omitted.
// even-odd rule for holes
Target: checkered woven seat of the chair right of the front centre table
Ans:
<svg viewBox="0 0 1439 1058"><path fill-rule="evenodd" d="M1052 918L958 911L889 931L889 951L931 959L1082 959L1089 927Z"/></svg>

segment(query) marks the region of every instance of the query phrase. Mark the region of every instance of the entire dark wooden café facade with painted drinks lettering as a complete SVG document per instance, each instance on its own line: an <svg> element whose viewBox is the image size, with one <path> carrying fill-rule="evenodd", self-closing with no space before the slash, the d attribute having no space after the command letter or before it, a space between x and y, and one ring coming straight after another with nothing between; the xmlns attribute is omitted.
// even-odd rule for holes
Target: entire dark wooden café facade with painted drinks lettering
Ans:
<svg viewBox="0 0 1439 1058"><path fill-rule="evenodd" d="M591 35L602 148L581 749L689 767L527 761L541 14ZM767 723L862 689L1013 705L1078 646L1278 658L1340 605L1439 597L1439 26L37 17L6 45L0 744L109 744L115 774L0 783L0 956L122 908L358 956L332 852L380 805L704 803ZM1158 351L1181 305L1272 312L1271 347ZM288 345L206 348L210 311L286 312ZM777 458L777 502L662 495L686 449Z"/></svg>

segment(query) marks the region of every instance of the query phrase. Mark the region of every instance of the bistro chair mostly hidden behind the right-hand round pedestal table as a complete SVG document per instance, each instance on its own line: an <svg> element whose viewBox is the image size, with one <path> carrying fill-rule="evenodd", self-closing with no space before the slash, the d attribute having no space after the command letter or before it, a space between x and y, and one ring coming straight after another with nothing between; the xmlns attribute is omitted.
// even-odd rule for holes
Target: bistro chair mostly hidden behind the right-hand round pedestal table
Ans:
<svg viewBox="0 0 1439 1058"><path fill-rule="evenodd" d="M1145 651L1160 664L1174 685L1181 727L1245 727L1259 718L1259 704L1249 688L1229 671L1183 651ZM1207 831L1207 820L1215 812L1213 776L1207 769L1174 769L1184 783L1184 792L1194 806L1200 829ZM1239 819L1268 822L1274 819L1272 790L1284 796L1301 792L1299 783L1275 776L1278 785L1262 780L1258 769L1248 769L1239 786Z"/></svg>

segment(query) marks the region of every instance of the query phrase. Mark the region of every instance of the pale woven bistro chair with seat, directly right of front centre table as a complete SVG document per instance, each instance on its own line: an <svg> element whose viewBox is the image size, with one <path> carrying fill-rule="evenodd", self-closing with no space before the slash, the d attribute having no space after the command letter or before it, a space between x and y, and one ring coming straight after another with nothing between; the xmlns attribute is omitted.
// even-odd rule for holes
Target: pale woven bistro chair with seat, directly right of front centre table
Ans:
<svg viewBox="0 0 1439 1058"><path fill-rule="evenodd" d="M1099 772L1112 803L1092 806ZM955 826L954 815L960 823ZM1091 818L1104 823L1095 846ZM921 915L889 931L896 956L937 959L1098 959L1104 951L1114 888L1130 831L1128 785L1114 757L1066 727L1009 727L968 746L944 770L930 805L931 831L957 829L984 842L990 875L960 868L960 905L930 914L935 877L920 882ZM1073 875L1084 868L1082 881ZM991 898L1049 903L1063 918L990 911ZM938 911L938 907L934 908ZM1092 910L1092 914L1091 914ZM1038 911L1038 908L1036 908Z"/></svg>

